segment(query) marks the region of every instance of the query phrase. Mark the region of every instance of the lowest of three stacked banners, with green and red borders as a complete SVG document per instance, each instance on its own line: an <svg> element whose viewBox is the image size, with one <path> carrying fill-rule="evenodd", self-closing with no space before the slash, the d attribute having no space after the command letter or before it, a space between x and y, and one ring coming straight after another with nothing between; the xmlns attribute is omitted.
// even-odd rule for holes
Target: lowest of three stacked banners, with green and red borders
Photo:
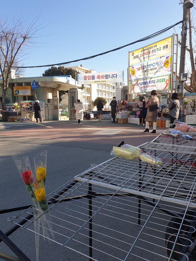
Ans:
<svg viewBox="0 0 196 261"><path fill-rule="evenodd" d="M130 82L129 93L163 91L171 88L171 74Z"/></svg>

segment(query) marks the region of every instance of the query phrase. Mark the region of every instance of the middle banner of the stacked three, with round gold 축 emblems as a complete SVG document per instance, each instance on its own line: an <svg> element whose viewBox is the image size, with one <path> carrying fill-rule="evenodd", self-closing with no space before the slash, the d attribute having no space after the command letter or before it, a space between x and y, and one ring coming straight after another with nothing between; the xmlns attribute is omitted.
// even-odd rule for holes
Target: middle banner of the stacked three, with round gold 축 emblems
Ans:
<svg viewBox="0 0 196 261"><path fill-rule="evenodd" d="M156 60L150 60L130 67L130 80L146 79L153 75L159 76L171 73L171 55Z"/></svg>

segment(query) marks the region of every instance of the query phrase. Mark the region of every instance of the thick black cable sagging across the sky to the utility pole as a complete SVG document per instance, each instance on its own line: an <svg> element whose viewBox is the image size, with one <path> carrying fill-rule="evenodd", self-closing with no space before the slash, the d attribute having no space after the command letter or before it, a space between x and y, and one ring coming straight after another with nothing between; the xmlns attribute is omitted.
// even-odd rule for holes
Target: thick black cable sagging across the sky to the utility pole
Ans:
<svg viewBox="0 0 196 261"><path fill-rule="evenodd" d="M107 51L107 52L103 52L103 53L101 53L101 54L96 54L96 55L93 55L93 56L89 56L89 57L85 57L85 58L81 58L81 59L77 59L77 60L73 60L73 61L69 61L69 62L61 62L61 63L47 64L47 65L39 65L39 66L13 66L13 68L49 67L49 66L55 66L55 65L65 65L65 64L69 64L69 63L71 63L71 62L78 62L78 61L81 61L81 60L92 59L92 58L95 58L95 57L97 57L97 56L101 56L101 55L103 55L103 54L108 54L108 53L110 53L110 52L114 52L114 51L120 50L120 49L122 49L122 48L124 48L124 47L127 47L127 46L129 46L129 45L132 45L132 44L134 44L134 43L139 43L139 42L146 41L146 40L148 40L148 39L152 39L152 38L154 38L154 37L156 37L156 36L158 36L158 35L161 35L162 33L167 32L168 30L170 30L171 28L173 28L174 26L176 26L176 25L178 25L178 24L180 24L180 23L182 23L182 22L183 22L183 21L180 21L180 22L178 22L178 23L176 23L176 24L173 24L173 25L171 25L171 26L168 26L168 27L164 28L163 30L160 30L160 31L158 31L158 32L156 32L156 33L153 33L153 34L151 34L151 35L148 35L147 37L144 37L144 38L142 38L142 39L140 39L140 40L134 41L134 42L132 42L132 43L128 43L128 44L126 44L126 45L123 45L123 46L121 46L121 47L112 49L112 50Z"/></svg>

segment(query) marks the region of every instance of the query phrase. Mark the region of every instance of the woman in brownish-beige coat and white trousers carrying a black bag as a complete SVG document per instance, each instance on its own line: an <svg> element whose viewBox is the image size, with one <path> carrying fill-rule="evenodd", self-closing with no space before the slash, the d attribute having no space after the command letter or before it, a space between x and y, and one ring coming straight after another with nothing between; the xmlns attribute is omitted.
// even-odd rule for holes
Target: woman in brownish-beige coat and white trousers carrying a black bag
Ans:
<svg viewBox="0 0 196 261"><path fill-rule="evenodd" d="M150 93L152 96L149 99L149 102L147 104L148 106L148 113L146 115L146 130L144 132L149 132L149 121L153 122L153 131L151 133L156 133L157 129L157 116L158 116L158 109L154 111L149 110L149 106L157 104L159 107L159 98L157 97L157 91L152 90Z"/></svg>

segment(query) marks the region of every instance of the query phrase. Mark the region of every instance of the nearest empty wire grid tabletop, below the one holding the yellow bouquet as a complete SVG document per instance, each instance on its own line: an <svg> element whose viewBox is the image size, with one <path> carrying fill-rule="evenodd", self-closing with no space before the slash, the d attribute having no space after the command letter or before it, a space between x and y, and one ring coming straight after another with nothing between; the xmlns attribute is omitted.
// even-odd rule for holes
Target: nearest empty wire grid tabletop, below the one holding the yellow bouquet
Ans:
<svg viewBox="0 0 196 261"><path fill-rule="evenodd" d="M183 212L188 210L186 206L160 200L154 203L143 197L135 197L131 193L122 193L101 186L92 187L86 182L74 183L73 180L72 184L68 182L54 191L49 198L55 198L64 190L66 191L61 196L61 201L52 205L47 214L51 219L55 240L49 229L49 237L45 237L73 250L72 260L75 258L83 261L88 257L89 260L99 261L166 261L169 260L170 249L176 239L176 248L171 260L178 260L175 258L178 255L188 260L185 254L176 252L182 248L184 241L187 241L185 245L192 245L192 241L183 236L187 230L195 231L189 221L194 215L189 214L186 221L183 221ZM12 222L18 224L31 212L32 209L23 212ZM138 212L141 213L140 216ZM176 213L180 212L181 216L176 216ZM166 248L165 238L171 236L173 224L170 228L168 223L172 218L175 218L174 224L177 227L173 230L180 235L170 238ZM40 219L44 220L44 215ZM33 223L28 220L25 227L35 232ZM181 230L178 230L180 226ZM41 233L39 235L43 236ZM82 256L78 256L77 253Z"/></svg>

